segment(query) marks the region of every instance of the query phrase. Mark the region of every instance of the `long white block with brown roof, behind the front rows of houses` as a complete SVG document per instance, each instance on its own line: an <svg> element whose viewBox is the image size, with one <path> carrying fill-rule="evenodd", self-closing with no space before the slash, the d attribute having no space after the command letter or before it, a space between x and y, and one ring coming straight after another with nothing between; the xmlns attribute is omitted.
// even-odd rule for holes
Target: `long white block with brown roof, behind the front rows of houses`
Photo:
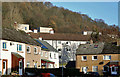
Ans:
<svg viewBox="0 0 120 77"><path fill-rule="evenodd" d="M86 44L90 41L90 36L68 33L29 33L31 37L48 42L59 52L59 62L67 63L75 61L76 49L80 44ZM64 45L65 44L65 45ZM65 50L65 51L63 51ZM62 58L62 54L63 58Z"/></svg>

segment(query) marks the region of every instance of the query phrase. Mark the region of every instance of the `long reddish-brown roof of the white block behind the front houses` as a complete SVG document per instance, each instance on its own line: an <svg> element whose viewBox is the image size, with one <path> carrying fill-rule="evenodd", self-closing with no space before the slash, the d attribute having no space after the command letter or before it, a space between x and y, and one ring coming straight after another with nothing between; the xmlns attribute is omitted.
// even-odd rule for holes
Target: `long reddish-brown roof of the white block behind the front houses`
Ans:
<svg viewBox="0 0 120 77"><path fill-rule="evenodd" d="M82 34L69 34L69 33L30 33L31 37L38 39L42 37L43 40L67 40L67 41L89 41L90 36Z"/></svg>

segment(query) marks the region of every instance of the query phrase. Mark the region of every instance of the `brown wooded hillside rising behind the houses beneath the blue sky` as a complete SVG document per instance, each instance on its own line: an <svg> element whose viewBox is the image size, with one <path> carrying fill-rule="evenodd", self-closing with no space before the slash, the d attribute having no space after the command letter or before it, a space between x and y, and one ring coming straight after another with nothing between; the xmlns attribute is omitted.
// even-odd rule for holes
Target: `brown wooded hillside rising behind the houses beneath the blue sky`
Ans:
<svg viewBox="0 0 120 77"><path fill-rule="evenodd" d="M83 30L117 33L119 30L116 26L108 26L102 19L92 20L85 14L53 6L50 2L9 2L2 5L3 27L11 28L14 22L18 22L30 24L30 28L53 27L56 33L81 33Z"/></svg>

